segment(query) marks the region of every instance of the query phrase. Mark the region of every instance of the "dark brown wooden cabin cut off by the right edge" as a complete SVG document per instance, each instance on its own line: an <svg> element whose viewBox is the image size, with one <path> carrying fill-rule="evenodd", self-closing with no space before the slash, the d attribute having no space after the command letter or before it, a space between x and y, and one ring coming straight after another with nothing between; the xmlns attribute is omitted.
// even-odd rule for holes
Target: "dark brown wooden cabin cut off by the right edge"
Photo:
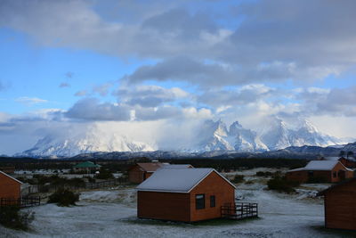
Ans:
<svg viewBox="0 0 356 238"><path fill-rule="evenodd" d="M325 227L356 230L356 178L318 193L324 196Z"/></svg>

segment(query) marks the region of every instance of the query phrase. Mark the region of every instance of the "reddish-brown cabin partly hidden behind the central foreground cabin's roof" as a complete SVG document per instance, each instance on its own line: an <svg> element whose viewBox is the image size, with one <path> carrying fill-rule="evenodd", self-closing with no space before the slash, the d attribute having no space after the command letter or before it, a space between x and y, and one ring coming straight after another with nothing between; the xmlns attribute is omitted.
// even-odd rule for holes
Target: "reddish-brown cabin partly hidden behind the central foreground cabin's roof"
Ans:
<svg viewBox="0 0 356 238"><path fill-rule="evenodd" d="M141 184L149 178L158 168L193 168L190 164L169 164L160 162L137 163L128 169L128 181Z"/></svg>

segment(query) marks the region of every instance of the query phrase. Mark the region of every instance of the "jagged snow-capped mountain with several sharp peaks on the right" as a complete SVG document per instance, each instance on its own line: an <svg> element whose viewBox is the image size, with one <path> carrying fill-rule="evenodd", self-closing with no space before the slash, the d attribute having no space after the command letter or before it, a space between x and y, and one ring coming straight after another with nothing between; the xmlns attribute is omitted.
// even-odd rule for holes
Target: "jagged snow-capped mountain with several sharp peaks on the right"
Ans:
<svg viewBox="0 0 356 238"><path fill-rule="evenodd" d="M328 146L340 143L336 138L318 132L309 121L303 120L295 129L287 127L281 119L274 119L260 134L242 127L235 121L227 129L222 120L206 121L198 135L198 144L185 152L266 152L289 146Z"/></svg>

